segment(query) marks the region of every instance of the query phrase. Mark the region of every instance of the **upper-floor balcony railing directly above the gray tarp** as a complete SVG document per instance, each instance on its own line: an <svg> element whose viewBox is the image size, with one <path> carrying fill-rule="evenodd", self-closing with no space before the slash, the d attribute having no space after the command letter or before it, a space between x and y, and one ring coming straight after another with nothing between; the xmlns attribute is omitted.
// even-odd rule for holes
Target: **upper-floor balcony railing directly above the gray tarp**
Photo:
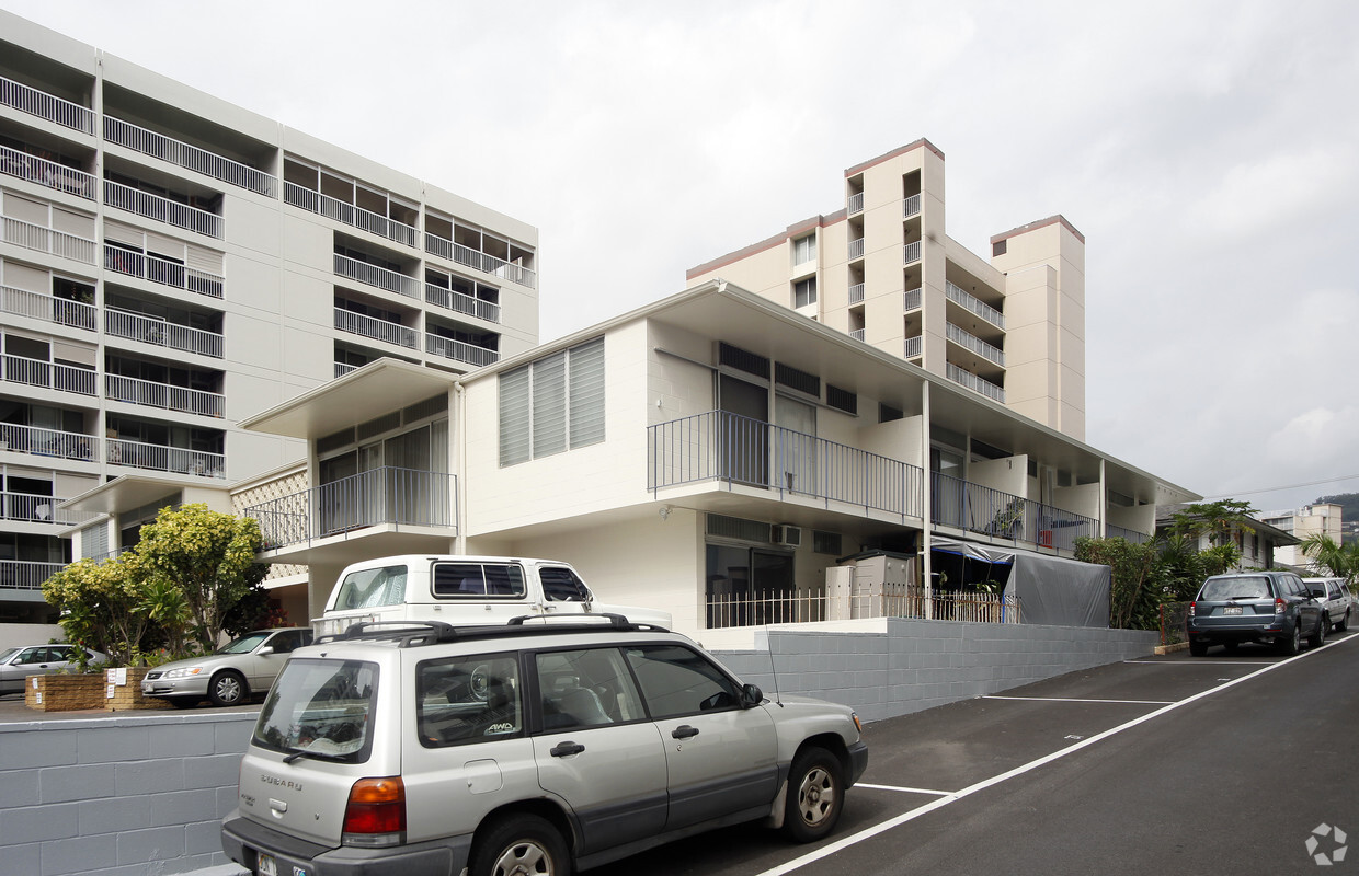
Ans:
<svg viewBox="0 0 1359 876"><path fill-rule="evenodd" d="M936 526L1057 550L1072 550L1079 536L1099 531L1093 517L938 471L930 483L930 519Z"/></svg>

